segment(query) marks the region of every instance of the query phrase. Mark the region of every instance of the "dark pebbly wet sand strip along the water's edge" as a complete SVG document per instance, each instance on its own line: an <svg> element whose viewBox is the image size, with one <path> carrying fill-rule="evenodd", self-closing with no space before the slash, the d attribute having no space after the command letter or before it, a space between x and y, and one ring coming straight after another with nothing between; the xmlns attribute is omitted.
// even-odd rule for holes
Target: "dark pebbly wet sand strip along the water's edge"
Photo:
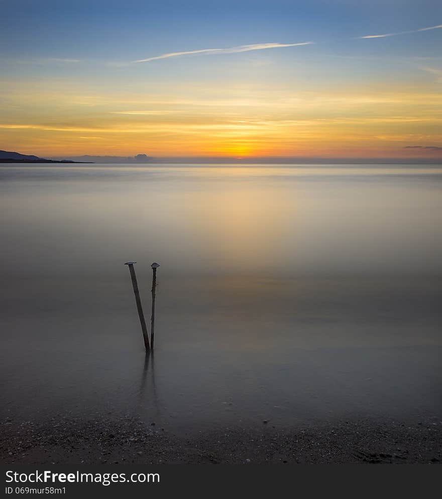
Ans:
<svg viewBox="0 0 442 499"><path fill-rule="evenodd" d="M2 464L437 464L442 421L370 420L287 429L262 421L174 434L138 419L4 422Z"/></svg>

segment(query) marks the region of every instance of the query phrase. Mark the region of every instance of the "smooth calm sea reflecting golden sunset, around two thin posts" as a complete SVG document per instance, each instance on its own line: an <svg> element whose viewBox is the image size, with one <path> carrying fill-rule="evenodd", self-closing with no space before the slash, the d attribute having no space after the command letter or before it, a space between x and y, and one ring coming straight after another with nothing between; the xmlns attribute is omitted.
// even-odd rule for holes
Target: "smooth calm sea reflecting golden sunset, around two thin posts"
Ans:
<svg viewBox="0 0 442 499"><path fill-rule="evenodd" d="M2 416L442 409L442 167L2 165ZM158 269L156 348L146 358Z"/></svg>

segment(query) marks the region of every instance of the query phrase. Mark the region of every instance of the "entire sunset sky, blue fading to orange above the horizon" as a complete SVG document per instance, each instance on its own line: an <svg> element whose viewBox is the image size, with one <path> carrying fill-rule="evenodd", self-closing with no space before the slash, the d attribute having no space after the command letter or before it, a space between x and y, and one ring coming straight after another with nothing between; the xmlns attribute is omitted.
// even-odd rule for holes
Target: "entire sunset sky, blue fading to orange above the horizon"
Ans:
<svg viewBox="0 0 442 499"><path fill-rule="evenodd" d="M3 0L0 149L442 158L442 2Z"/></svg>

